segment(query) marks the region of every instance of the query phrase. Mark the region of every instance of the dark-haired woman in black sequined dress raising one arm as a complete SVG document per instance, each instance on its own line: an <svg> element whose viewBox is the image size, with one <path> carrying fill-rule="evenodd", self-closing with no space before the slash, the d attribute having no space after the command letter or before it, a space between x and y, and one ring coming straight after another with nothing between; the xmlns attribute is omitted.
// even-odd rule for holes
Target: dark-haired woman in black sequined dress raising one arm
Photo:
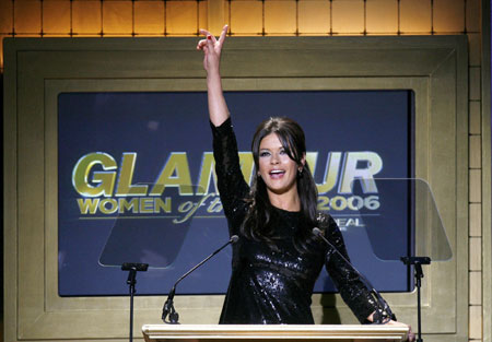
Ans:
<svg viewBox="0 0 492 342"><path fill-rule="evenodd" d="M251 143L257 175L251 188L243 178L237 144L223 96L220 57L227 26L219 39L200 31L207 71L209 115L218 186L233 247L233 273L221 323L314 323L311 296L326 266L341 296L361 322L401 325L374 300L342 257L313 235L318 227L349 258L335 221L316 210L317 191L306 164L301 127L288 118L270 118ZM410 340L413 340L411 334Z"/></svg>

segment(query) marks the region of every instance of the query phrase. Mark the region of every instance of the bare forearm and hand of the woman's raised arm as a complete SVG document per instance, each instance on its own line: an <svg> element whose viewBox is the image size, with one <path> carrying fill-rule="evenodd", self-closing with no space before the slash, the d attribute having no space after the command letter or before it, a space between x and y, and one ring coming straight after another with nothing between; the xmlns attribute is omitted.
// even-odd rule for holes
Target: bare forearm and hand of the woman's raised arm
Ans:
<svg viewBox="0 0 492 342"><path fill-rule="evenodd" d="M229 26L222 28L221 36L216 39L210 32L200 30L206 35L206 39L198 42L197 49L203 51L203 68L207 71L207 90L209 99L210 121L215 126L221 126L229 117L227 104L222 92L222 81L220 73L221 52L224 45Z"/></svg>

